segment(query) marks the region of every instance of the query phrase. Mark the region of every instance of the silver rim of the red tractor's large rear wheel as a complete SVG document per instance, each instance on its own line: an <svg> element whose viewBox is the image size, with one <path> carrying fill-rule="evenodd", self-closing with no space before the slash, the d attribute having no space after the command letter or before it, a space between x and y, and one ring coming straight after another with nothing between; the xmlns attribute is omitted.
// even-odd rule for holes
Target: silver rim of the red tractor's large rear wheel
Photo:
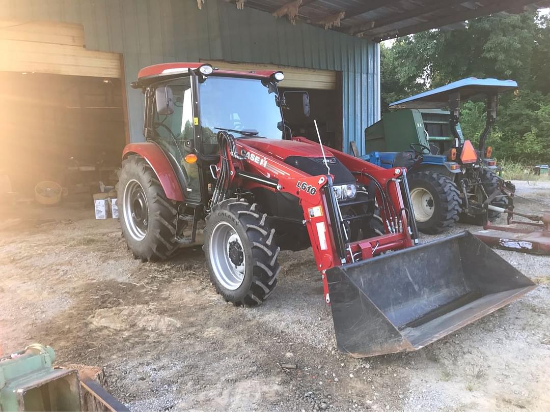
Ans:
<svg viewBox="0 0 550 412"><path fill-rule="evenodd" d="M130 236L136 241L144 240L149 226L149 204L140 182L132 179L126 183L123 201L124 222Z"/></svg>

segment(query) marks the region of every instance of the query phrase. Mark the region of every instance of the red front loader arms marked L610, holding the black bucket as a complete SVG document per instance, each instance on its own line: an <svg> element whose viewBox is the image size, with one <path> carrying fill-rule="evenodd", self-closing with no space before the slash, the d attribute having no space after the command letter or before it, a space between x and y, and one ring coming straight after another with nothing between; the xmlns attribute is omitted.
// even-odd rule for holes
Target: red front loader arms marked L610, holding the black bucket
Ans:
<svg viewBox="0 0 550 412"><path fill-rule="evenodd" d="M302 140L299 140L302 141ZM307 141L307 140L303 140ZM309 142L309 141L307 141ZM388 250L398 250L413 246L414 242L408 230L408 219L399 179L403 177L404 169L383 169L361 159L356 159L344 153L331 149L331 153L342 160L344 165L354 174L357 182L370 185L374 178L387 191L392 208L398 211L398 216L382 218L388 221L388 233L384 235L347 242L341 229L341 219L338 205L332 190L332 175L310 176L281 160L266 155L246 144L246 139L235 142L239 158L233 157L230 183L233 187L262 187L272 192L285 192L299 199L303 211L303 225L307 233L315 257L317 270L322 274L324 299L330 302L328 282L325 273L334 266L354 263L372 258ZM230 153L227 153L230 156ZM382 203L382 193L377 192ZM388 207L389 209L389 207ZM389 223L392 221L392 223ZM394 223L395 221L395 223Z"/></svg>

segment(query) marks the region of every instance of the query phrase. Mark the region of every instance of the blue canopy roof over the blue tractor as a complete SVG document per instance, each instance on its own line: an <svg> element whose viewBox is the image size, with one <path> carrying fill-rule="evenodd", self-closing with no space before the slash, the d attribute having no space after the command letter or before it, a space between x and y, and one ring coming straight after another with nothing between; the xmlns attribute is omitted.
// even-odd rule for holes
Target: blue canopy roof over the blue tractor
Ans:
<svg viewBox="0 0 550 412"><path fill-rule="evenodd" d="M390 108L406 109L433 109L449 105L449 95L453 92L460 93L460 99L466 100L477 94L502 93L518 88L518 83L513 80L477 79L468 77L449 83L448 85L428 90L427 92L407 97L389 105Z"/></svg>

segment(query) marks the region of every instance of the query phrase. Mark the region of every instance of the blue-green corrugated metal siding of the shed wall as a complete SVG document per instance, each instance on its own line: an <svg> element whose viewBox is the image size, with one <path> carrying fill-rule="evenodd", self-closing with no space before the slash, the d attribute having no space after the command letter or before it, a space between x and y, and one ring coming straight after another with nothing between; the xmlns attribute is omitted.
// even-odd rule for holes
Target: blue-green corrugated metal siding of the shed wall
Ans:
<svg viewBox="0 0 550 412"><path fill-rule="evenodd" d="M125 77L143 66L199 59L340 70L344 149L379 118L378 44L234 4L207 0L0 0L0 19L84 25L86 48L122 53ZM142 140L142 98L127 87L130 133Z"/></svg>

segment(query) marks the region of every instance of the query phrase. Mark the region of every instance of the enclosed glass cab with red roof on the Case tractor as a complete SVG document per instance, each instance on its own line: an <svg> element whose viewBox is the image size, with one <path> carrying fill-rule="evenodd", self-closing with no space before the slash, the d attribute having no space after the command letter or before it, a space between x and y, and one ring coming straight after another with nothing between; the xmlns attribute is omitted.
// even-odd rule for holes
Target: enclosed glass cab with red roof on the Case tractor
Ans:
<svg viewBox="0 0 550 412"><path fill-rule="evenodd" d="M212 196L219 131L237 140L290 138L277 90L283 77L280 71L235 72L200 63L140 70L132 86L145 94L144 136L167 155L187 204L206 204Z"/></svg>

